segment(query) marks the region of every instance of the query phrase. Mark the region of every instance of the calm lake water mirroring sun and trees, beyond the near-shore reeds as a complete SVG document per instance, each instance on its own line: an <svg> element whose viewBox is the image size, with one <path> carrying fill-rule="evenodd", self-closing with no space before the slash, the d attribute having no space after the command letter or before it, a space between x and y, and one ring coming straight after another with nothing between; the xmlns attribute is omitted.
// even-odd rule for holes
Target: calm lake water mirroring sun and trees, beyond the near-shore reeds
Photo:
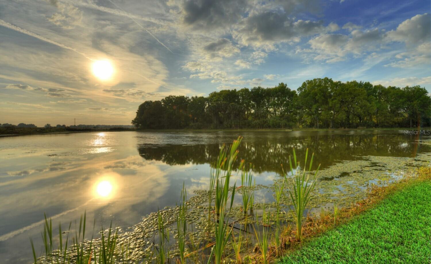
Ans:
<svg viewBox="0 0 431 264"><path fill-rule="evenodd" d="M184 183L189 197L209 189L210 164L222 143L241 135L239 159L253 163L262 188L256 200L271 202L270 186L295 147L321 164L316 210L365 195L370 183L395 180L428 164L426 135L403 130L262 132L88 132L0 137L0 259L31 261L31 236L41 253L44 213L53 225L87 219L128 230L158 208L175 206ZM429 135L428 135L429 136ZM315 168L314 168L315 169ZM238 185L238 184L237 184ZM65 227L66 228L66 227ZM99 227L97 227L98 229Z"/></svg>

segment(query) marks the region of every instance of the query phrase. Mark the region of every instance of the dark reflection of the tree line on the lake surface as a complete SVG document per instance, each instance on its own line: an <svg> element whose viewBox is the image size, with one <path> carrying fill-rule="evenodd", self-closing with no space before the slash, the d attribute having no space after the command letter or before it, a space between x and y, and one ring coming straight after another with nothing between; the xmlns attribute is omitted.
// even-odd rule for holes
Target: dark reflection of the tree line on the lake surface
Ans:
<svg viewBox="0 0 431 264"><path fill-rule="evenodd" d="M429 146L419 146L419 141L394 131L375 134L336 134L331 131L292 133L270 132L243 133L238 158L252 162L253 171L262 173L271 171L281 173L280 164L287 163L292 147L297 149L299 160L303 160L305 149L315 154L315 160L321 168L327 168L341 160L356 160L362 155L373 156L415 156L418 148L428 152ZM395 131L396 132L396 131ZM222 143L230 143L237 134L209 134L209 143L164 143L149 144L145 137L138 143L138 152L146 160L162 161L168 165L210 164L219 154ZM421 152L419 151L419 152Z"/></svg>

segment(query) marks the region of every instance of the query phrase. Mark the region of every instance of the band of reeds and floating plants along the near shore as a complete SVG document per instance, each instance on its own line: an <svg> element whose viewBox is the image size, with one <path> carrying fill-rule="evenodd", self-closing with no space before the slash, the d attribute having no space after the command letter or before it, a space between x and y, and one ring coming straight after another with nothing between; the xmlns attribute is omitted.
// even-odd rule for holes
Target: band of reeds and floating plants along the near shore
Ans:
<svg viewBox="0 0 431 264"><path fill-rule="evenodd" d="M319 167L313 171L314 155L309 162L307 149L305 164L300 166L294 150L293 161L289 157L292 175L288 176L283 171L281 175L273 178L273 185L263 186L256 185L251 174L251 165L246 166L245 161L241 161L238 166L236 160L240 141L241 138L235 140L230 149L225 145L220 149L219 157L212 166L209 190L194 191L194 195L187 200L183 183L179 205L147 215L141 223L124 233L118 229L113 230L111 226L104 234L101 233L100 239L86 240L84 214L80 224L75 224L77 231L72 239L73 245L68 248L69 238L62 235L61 225L59 239L53 239L52 223L45 217L42 232L44 260L36 258L33 240L30 241L35 263L87 264L90 259L96 264L141 261L181 264L207 261L241 263L250 261L250 258L259 263L267 263L275 256L282 255L286 248L299 244L303 238L342 223L346 215L344 209L366 196L366 190L373 186L373 183L375 186L385 186L395 182L399 177L405 176L404 171L407 168L410 170L409 165L428 164L427 159L431 157L429 153L419 154L415 158L362 156L358 160L343 161L323 170ZM382 169L384 171L381 171ZM241 176L240 187L236 187L236 183L233 184L231 179L236 172ZM343 177L338 177L340 175ZM322 180L323 177L332 180ZM235 197L237 193L242 195L242 199ZM262 203L267 193L273 193L274 202ZM333 204L334 218L328 213ZM293 215L285 214L284 207L289 207ZM318 208L322 210L322 219L310 216L305 220L307 213L312 215ZM253 214L256 213L260 217L256 216L255 219ZM296 233L291 232L291 220L296 225ZM313 224L318 227L313 227ZM234 227L239 229L239 232L236 232ZM250 234L247 233L248 227L253 228ZM174 230L175 241L170 241L170 230ZM296 234L296 239L292 238L292 233ZM298 233L301 236L299 239ZM53 241L59 241L59 245L54 245ZM255 242L260 254L247 257L251 252L250 245ZM80 262L75 262L76 260Z"/></svg>

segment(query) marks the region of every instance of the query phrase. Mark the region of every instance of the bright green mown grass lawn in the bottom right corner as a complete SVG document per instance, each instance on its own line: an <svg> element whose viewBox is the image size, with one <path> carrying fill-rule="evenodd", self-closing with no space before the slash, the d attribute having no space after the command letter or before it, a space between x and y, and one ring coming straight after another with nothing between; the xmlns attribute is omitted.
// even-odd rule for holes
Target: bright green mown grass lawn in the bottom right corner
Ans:
<svg viewBox="0 0 431 264"><path fill-rule="evenodd" d="M431 182L408 186L306 241L284 263L431 263Z"/></svg>

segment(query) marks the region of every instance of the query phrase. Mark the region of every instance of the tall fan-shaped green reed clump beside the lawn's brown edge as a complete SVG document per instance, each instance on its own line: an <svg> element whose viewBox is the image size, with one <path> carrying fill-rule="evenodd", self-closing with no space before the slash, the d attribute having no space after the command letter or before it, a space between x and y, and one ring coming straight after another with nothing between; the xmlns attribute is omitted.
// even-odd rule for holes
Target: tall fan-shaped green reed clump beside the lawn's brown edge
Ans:
<svg viewBox="0 0 431 264"><path fill-rule="evenodd" d="M293 202L295 211L292 211L292 214L294 214L295 217L295 223L296 223L296 238L297 241L301 241L302 239L302 218L304 214L304 210L307 206L307 203L309 202L310 195L312 190L314 189L314 186L316 184L316 178L317 178L317 172L319 171L320 165L318 166L317 170L314 173L314 177L312 178L312 181L309 182L309 176L311 172L311 167L313 164L313 158L314 153L311 156L311 160L309 163L308 172L306 171L307 168L307 157L308 157L308 149L305 153L305 162L304 162L304 169L302 172L300 172L300 162L297 162L297 157L295 153L295 149L293 149L293 156L294 156L294 165L295 165L295 171L292 164L291 157L289 155L289 165L290 165L290 171L292 173L292 182L293 182L293 190L289 189L289 195L290 199ZM284 180L287 182L287 176L283 171ZM310 185L309 185L310 183Z"/></svg>

